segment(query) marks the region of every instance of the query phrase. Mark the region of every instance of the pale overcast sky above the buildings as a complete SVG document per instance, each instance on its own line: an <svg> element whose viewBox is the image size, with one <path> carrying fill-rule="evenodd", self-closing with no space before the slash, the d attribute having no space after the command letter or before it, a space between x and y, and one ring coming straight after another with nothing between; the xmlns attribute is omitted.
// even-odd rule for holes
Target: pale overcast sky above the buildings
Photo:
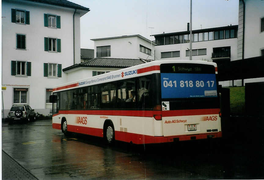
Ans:
<svg viewBox="0 0 264 180"><path fill-rule="evenodd" d="M90 8L81 17L81 48L94 38L187 31L190 0L69 0ZM193 0L193 30L238 24L239 0ZM148 28L154 27L154 29Z"/></svg>

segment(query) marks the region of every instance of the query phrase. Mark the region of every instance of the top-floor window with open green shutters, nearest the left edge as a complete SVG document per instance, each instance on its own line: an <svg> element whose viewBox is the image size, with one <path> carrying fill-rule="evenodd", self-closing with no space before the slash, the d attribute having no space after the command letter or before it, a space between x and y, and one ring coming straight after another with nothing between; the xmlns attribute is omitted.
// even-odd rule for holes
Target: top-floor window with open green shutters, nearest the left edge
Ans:
<svg viewBox="0 0 264 180"><path fill-rule="evenodd" d="M11 9L11 22L29 24L29 11L22 9Z"/></svg>

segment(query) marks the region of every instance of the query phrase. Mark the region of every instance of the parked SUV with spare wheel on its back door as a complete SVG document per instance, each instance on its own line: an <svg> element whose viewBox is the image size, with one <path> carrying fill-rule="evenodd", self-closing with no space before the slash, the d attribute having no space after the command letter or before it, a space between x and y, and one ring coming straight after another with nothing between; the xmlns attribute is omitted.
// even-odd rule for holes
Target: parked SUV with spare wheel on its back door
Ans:
<svg viewBox="0 0 264 180"><path fill-rule="evenodd" d="M34 109L27 104L23 105L13 105L8 113L7 118L11 121L13 120L36 120L36 113Z"/></svg>

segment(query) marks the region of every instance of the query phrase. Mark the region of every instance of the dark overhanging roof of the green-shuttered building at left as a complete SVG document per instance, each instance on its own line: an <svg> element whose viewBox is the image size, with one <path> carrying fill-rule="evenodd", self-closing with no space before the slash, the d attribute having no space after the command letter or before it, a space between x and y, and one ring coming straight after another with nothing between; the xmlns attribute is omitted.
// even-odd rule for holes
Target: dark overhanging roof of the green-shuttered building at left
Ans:
<svg viewBox="0 0 264 180"><path fill-rule="evenodd" d="M84 6L81 6L79 4L75 4L75 3L67 1L67 0L26 0L26 1L39 2L39 3L44 3L44 4L58 5L58 6L68 7L68 8L90 11L89 8L86 8Z"/></svg>

